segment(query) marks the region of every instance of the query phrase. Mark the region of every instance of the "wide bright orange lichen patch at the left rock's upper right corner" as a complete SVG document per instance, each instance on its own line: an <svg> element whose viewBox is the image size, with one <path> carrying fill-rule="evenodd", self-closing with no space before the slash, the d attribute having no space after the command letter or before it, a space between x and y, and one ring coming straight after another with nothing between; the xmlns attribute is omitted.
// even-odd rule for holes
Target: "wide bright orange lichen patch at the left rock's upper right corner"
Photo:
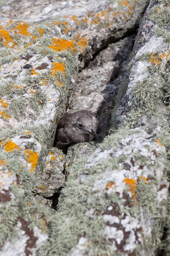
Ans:
<svg viewBox="0 0 170 256"><path fill-rule="evenodd" d="M50 45L49 48L52 48L55 52L61 52L61 51L72 51L75 53L75 44L71 42L70 40L66 39L57 39L53 38L53 45Z"/></svg>

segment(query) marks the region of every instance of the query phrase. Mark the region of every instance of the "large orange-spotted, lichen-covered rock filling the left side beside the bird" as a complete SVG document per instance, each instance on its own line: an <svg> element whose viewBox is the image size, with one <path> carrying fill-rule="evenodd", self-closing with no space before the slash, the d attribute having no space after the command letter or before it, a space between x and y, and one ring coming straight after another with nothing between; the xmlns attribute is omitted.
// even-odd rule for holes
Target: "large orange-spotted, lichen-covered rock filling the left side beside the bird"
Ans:
<svg viewBox="0 0 170 256"><path fill-rule="evenodd" d="M0 248L3 255L36 255L37 251L43 254L46 251L46 224L53 210L34 200L36 173L40 172L41 161L52 147L56 120L65 107L77 58L75 42L50 33L47 26L43 30L37 24L0 21ZM60 164L59 167L62 168Z"/></svg>

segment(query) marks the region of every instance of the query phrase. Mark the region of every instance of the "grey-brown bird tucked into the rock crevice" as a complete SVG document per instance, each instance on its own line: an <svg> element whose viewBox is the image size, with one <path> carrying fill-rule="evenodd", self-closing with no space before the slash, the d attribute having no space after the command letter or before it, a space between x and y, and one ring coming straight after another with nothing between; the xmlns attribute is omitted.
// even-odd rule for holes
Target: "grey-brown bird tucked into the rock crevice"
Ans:
<svg viewBox="0 0 170 256"><path fill-rule="evenodd" d="M101 132L98 120L89 110L79 110L62 116L56 128L56 148L69 144L91 142Z"/></svg>

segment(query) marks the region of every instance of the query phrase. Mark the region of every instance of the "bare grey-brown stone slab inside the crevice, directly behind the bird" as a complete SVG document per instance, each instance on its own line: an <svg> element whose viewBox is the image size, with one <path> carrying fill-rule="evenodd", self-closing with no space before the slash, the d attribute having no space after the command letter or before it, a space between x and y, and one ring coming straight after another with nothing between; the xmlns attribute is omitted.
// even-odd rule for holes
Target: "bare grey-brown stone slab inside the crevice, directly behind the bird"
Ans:
<svg viewBox="0 0 170 256"><path fill-rule="evenodd" d="M96 113L100 137L108 135L118 81L125 71L132 42L133 36L108 45L77 75L67 112L87 109Z"/></svg>

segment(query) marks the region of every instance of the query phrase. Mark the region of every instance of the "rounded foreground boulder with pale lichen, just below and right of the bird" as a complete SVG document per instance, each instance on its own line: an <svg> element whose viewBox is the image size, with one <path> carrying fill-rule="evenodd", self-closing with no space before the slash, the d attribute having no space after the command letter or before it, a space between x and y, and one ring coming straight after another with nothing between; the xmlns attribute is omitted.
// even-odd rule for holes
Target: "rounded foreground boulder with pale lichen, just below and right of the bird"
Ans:
<svg viewBox="0 0 170 256"><path fill-rule="evenodd" d="M59 254L63 247L71 248L67 255L153 254L152 239L161 234L153 230L165 217L165 162L164 147L138 128L109 136L87 160L77 160L59 198Z"/></svg>

